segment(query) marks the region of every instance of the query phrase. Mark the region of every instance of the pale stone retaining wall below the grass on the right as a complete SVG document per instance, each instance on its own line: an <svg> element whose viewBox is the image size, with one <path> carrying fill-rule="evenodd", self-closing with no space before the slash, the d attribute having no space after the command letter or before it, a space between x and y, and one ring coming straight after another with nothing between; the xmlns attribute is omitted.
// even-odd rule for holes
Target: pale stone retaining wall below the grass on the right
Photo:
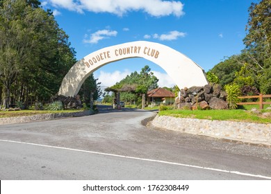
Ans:
<svg viewBox="0 0 271 194"><path fill-rule="evenodd" d="M271 123L245 123L234 121L211 121L197 118L156 116L151 122L167 130L231 139L246 143L271 145Z"/></svg>

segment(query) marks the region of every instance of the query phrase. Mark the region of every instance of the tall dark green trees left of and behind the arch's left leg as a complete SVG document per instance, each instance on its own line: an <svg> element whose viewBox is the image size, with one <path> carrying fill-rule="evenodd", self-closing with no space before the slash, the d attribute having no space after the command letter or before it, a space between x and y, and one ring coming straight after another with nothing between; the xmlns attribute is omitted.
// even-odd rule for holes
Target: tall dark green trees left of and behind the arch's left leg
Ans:
<svg viewBox="0 0 271 194"><path fill-rule="evenodd" d="M1 106L48 102L76 62L69 36L58 26L51 10L38 0L0 0ZM98 98L99 83L90 76L80 94Z"/></svg>

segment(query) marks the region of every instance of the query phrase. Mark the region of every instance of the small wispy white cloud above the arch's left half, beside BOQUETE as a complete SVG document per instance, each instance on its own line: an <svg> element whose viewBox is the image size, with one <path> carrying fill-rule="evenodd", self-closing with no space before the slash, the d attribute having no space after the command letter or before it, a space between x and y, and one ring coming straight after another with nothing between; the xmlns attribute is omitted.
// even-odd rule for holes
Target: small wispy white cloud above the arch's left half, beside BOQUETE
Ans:
<svg viewBox="0 0 271 194"><path fill-rule="evenodd" d="M112 36L113 37L117 36L117 31L115 31L115 30L98 30L97 32L92 33L90 35L90 37L88 35L85 35L85 39L83 39L83 42L90 43L90 44L97 44L101 39L106 39L106 38L109 38Z"/></svg>

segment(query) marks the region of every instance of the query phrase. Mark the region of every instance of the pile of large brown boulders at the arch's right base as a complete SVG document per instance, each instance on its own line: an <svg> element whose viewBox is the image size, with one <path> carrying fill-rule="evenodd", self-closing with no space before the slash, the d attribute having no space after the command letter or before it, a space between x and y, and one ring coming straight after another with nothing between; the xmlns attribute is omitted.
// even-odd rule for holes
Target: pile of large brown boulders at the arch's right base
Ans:
<svg viewBox="0 0 271 194"><path fill-rule="evenodd" d="M181 89L175 100L178 109L228 109L227 92L217 84Z"/></svg>

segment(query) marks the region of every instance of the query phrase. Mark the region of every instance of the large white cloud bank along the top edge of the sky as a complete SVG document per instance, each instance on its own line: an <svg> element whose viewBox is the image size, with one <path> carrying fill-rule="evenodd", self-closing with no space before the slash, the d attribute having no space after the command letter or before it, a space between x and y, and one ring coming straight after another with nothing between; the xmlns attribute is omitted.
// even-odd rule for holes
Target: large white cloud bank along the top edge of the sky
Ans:
<svg viewBox="0 0 271 194"><path fill-rule="evenodd" d="M154 17L184 15L181 1L163 0L48 0L52 6L73 10L76 12L110 12L124 15L126 12L142 10Z"/></svg>

